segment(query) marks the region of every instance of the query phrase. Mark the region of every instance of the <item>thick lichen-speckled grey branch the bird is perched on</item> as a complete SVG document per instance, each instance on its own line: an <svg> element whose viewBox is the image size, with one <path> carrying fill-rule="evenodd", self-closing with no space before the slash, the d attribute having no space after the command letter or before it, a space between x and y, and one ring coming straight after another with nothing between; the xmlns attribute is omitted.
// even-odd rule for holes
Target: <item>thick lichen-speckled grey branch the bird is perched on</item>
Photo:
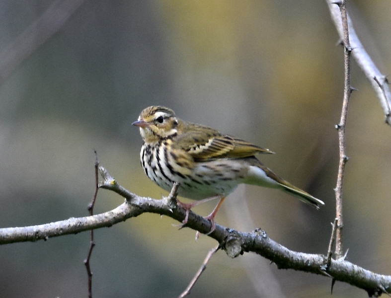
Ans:
<svg viewBox="0 0 391 298"><path fill-rule="evenodd" d="M103 168L99 167L104 181L100 188L108 189L123 196L126 201L114 210L83 218L71 218L65 221L25 227L0 229L0 244L37 241L81 231L108 227L143 213L156 213L182 222L186 210L175 205L169 197L155 200L139 197L119 185ZM208 233L211 223L201 216L190 212L187 227ZM208 235L216 239L228 256L235 258L244 252L255 252L277 265L279 269L294 269L303 272L331 277L367 291L370 297L378 297L382 293L391 292L391 276L380 275L354 265L344 258L331 259L327 265L327 256L292 251L270 239L264 230L241 232L216 224L216 229Z"/></svg>

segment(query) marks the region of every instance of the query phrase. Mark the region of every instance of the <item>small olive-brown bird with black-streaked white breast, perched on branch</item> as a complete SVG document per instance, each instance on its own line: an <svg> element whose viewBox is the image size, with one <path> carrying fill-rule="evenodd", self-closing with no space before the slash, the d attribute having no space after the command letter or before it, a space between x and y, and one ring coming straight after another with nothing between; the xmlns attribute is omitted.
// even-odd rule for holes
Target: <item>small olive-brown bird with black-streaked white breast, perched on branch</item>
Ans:
<svg viewBox="0 0 391 298"><path fill-rule="evenodd" d="M258 153L274 152L220 133L201 124L183 121L163 106L145 108L132 125L140 128L143 145L140 161L145 174L158 186L170 191L178 183L179 196L196 200L177 204L186 210L181 226L194 206L219 198L205 217L216 228L214 218L226 196L241 184L280 189L319 209L324 203L276 175L259 161ZM209 234L208 233L208 234Z"/></svg>

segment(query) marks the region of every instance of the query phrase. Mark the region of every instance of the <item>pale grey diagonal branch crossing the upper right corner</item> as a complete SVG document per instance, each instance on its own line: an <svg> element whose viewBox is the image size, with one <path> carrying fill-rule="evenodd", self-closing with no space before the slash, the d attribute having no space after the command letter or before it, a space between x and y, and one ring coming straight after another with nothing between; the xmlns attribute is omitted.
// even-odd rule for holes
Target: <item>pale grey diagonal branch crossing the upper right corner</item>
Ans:
<svg viewBox="0 0 391 298"><path fill-rule="evenodd" d="M331 17L334 21L334 24L338 30L338 34L341 40L343 40L343 28L342 28L342 19L341 12L338 8L338 5L335 4L333 0L327 0L328 8L330 9ZM387 124L391 125L391 92L388 86L387 77L380 72L376 67L375 63L372 61L371 57L365 51L361 41L359 40L354 28L352 20L349 15L347 15L347 22L349 26L349 40L350 46L352 48L352 54L356 60L358 66L361 68L363 73L371 82L372 88L374 88L380 104L383 108L383 113L385 115L385 121Z"/></svg>

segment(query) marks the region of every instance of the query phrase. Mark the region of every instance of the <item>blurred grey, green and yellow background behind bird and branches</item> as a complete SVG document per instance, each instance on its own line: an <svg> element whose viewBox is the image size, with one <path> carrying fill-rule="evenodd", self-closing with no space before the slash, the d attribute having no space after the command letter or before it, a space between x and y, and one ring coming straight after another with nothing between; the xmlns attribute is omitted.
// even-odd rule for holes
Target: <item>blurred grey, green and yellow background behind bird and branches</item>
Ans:
<svg viewBox="0 0 391 298"><path fill-rule="evenodd" d="M391 6L349 1L364 46L391 70ZM39 27L40 22L45 26ZM276 173L323 200L313 210L279 191L240 186L218 224L325 254L335 217L343 50L325 1L0 2L0 227L87 215L94 154L138 195L166 192L142 171L131 123L168 106L277 154ZM391 128L352 63L343 187L348 260L391 274ZM123 198L99 191L95 213ZM184 200L185 201L185 200ZM208 215L216 202L194 209ZM95 231L93 297L177 297L216 242L144 214ZM89 232L0 247L0 297L86 297ZM331 280L277 270L253 254L213 256L190 297L330 297ZM336 283L333 297L367 297Z"/></svg>

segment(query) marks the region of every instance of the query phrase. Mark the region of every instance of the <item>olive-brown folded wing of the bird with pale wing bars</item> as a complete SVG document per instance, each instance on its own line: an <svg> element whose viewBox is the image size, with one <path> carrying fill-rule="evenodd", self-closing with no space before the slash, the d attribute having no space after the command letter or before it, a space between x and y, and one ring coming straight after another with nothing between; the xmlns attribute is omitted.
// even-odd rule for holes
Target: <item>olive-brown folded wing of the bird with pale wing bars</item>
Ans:
<svg viewBox="0 0 391 298"><path fill-rule="evenodd" d="M196 161L240 158L253 156L257 153L273 153L269 149L222 135L214 129L199 125L191 127L179 135L175 140L175 148L185 150Z"/></svg>

